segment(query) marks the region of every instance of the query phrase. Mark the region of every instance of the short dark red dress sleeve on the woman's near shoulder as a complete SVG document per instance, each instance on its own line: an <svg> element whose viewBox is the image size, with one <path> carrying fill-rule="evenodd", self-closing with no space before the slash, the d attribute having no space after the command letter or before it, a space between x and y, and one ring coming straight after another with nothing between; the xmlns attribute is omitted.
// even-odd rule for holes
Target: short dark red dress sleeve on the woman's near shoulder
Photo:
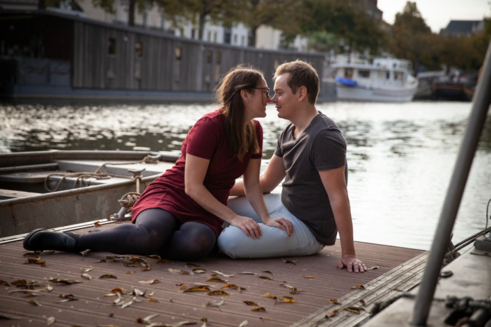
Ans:
<svg viewBox="0 0 491 327"><path fill-rule="evenodd" d="M186 136L186 153L203 159L212 159L221 138L221 126L217 121L203 117L194 124Z"/></svg>

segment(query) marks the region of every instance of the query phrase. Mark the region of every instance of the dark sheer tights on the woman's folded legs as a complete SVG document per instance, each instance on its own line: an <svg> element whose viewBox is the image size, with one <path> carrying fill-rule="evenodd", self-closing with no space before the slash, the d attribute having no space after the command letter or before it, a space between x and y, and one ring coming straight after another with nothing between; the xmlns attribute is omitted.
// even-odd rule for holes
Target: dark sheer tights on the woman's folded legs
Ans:
<svg viewBox="0 0 491 327"><path fill-rule="evenodd" d="M80 235L75 250L88 248L119 255L160 255L166 259L191 261L206 257L215 246L215 232L197 222L181 223L163 209L146 209L134 224Z"/></svg>

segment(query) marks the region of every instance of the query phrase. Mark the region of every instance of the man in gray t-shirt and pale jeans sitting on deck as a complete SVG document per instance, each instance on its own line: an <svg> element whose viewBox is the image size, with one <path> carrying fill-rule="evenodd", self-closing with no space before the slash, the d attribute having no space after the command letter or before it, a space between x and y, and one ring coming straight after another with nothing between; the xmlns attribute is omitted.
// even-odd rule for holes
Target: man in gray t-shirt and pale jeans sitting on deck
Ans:
<svg viewBox="0 0 491 327"><path fill-rule="evenodd" d="M315 109L320 81L317 72L303 61L284 63L274 74L274 97L278 117L292 122L281 133L274 155L260 176L264 193L286 177L279 196L265 196L274 218L286 223L279 228L260 226L258 239L230 226L218 239L221 252L231 257L278 257L312 255L331 246L339 232L341 260L338 268L364 273L366 266L354 251L350 200L346 183L346 143L336 123ZM231 196L244 195L236 182ZM245 198L229 202L242 216L260 222Z"/></svg>

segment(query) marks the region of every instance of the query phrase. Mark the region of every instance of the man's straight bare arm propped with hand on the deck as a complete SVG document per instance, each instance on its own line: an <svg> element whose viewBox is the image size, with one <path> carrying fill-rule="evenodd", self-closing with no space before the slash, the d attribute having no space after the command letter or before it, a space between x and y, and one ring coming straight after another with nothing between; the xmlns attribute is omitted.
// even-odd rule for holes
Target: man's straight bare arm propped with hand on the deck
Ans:
<svg viewBox="0 0 491 327"><path fill-rule="evenodd" d="M334 220L339 231L341 239L341 260L338 262L338 268L344 266L348 271L355 273L364 273L366 266L357 259L354 252L353 240L353 222L351 218L350 199L348 198L348 189L346 188L344 177L345 166L336 169L322 170L319 172L320 180L329 196Z"/></svg>

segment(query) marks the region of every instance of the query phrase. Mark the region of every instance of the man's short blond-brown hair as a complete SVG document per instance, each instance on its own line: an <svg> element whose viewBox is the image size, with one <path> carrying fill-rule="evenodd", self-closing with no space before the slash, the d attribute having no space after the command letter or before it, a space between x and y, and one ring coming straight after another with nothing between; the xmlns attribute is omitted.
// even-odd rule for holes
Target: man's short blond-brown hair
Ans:
<svg viewBox="0 0 491 327"><path fill-rule="evenodd" d="M274 72L273 81L282 74L290 74L286 80L286 84L292 89L292 93L297 93L297 90L305 86L307 89L307 96L311 104L315 104L319 95L320 81L319 75L315 71L314 67L305 61L297 59L296 61L290 61L290 63L283 63L276 68Z"/></svg>

